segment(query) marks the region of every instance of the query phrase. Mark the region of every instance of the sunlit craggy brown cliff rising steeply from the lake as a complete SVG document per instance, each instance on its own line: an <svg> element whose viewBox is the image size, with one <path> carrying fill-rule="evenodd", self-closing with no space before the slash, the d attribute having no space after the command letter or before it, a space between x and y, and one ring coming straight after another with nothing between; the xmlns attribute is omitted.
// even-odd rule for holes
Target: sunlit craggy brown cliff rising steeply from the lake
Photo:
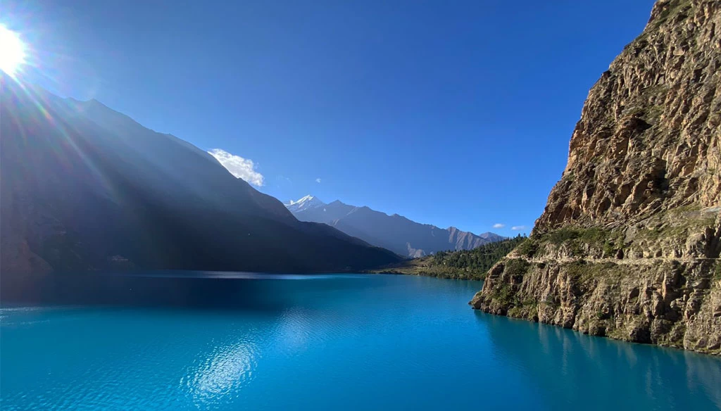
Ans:
<svg viewBox="0 0 721 411"><path fill-rule="evenodd" d="M476 309L721 353L721 3L665 0L593 86L531 237Z"/></svg>

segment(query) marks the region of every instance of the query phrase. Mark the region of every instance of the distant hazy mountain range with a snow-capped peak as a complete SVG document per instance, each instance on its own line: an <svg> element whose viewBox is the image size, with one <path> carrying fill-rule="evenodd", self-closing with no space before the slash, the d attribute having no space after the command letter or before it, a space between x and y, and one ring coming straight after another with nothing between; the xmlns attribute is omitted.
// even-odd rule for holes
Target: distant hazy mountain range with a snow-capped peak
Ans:
<svg viewBox="0 0 721 411"><path fill-rule="evenodd" d="M325 204L311 195L286 203L286 207L298 220L328 224L345 234L412 258L448 249L474 249L504 238L493 233L476 235L456 227L439 229L398 214L389 216L368 207L356 207L338 200Z"/></svg>

